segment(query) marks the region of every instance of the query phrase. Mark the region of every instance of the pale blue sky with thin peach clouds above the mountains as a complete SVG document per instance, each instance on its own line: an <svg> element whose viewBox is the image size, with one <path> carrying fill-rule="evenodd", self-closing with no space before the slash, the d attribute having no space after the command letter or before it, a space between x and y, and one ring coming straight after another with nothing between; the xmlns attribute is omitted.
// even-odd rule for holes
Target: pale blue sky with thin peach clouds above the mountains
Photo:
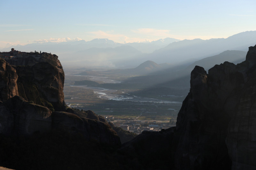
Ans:
<svg viewBox="0 0 256 170"><path fill-rule="evenodd" d="M255 0L0 0L0 48L108 38L227 38L256 30Z"/></svg>

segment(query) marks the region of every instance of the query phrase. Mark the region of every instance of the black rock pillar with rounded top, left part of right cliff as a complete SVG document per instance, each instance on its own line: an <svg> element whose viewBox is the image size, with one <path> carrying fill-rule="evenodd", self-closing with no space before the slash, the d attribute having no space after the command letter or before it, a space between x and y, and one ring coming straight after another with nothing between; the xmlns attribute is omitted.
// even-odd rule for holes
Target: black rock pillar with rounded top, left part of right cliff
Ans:
<svg viewBox="0 0 256 170"><path fill-rule="evenodd" d="M178 114L173 139L176 169L228 169L230 166L225 144L230 117L222 102L230 93L228 89L218 92L221 88L216 86L220 84L211 84L210 78L202 67L195 67L191 72L190 92Z"/></svg>

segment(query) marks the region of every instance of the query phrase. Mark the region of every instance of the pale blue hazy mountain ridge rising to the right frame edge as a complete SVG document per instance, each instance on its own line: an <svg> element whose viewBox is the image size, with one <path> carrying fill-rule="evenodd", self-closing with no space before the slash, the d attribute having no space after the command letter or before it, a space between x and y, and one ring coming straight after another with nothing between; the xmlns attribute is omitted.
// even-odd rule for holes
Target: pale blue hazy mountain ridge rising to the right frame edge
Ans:
<svg viewBox="0 0 256 170"><path fill-rule="evenodd" d="M247 51L248 47L256 44L256 31L247 31L230 36L226 39L194 39L173 42L147 56L147 60L156 63L180 63L186 60L200 60L217 55L226 50ZM157 61L156 61L157 60Z"/></svg>

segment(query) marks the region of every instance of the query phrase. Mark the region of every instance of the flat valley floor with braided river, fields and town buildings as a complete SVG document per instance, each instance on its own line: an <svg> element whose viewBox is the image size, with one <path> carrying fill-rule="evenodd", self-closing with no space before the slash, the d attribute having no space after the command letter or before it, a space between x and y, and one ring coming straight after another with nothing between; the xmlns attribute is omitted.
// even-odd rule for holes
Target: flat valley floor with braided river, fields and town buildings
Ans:
<svg viewBox="0 0 256 170"><path fill-rule="evenodd" d="M72 73L73 72L73 73ZM64 95L68 107L92 110L108 122L136 134L144 130L159 131L176 125L177 115L185 97L163 88L148 93L134 88L122 89L120 77L79 76L75 71L65 76ZM113 75L112 75L113 76ZM124 78L124 77L122 77ZM76 81L95 80L114 85L116 89L92 85L74 85Z"/></svg>

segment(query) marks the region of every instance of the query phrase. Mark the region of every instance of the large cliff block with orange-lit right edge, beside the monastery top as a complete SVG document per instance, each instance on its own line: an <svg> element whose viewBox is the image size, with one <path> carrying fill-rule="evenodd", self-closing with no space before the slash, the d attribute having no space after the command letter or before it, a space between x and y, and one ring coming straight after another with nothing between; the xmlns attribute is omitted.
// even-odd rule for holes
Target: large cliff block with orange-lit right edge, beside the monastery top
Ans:
<svg viewBox="0 0 256 170"><path fill-rule="evenodd" d="M64 105L64 71L57 55L42 53L40 57L21 58L17 60L16 72L19 95L35 104L63 111ZM28 63L29 65L20 65ZM20 61L20 62L19 62ZM13 64L13 59L7 62Z"/></svg>

